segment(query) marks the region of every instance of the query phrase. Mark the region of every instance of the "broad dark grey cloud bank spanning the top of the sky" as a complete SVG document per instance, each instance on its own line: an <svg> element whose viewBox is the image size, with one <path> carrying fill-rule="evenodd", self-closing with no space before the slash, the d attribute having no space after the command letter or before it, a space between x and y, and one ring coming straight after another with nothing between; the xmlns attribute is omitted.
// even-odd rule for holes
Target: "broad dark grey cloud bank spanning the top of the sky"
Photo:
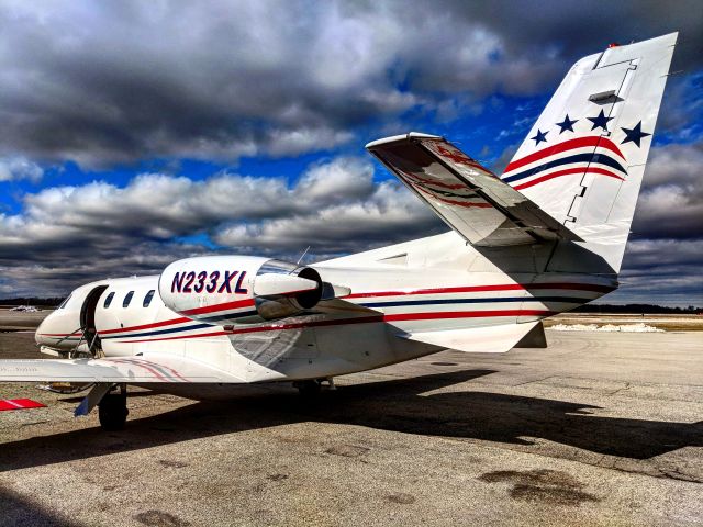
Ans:
<svg viewBox="0 0 703 527"><path fill-rule="evenodd" d="M678 58L700 66L702 10L683 3L5 2L0 154L105 167L328 149L447 93L535 93L618 36L680 27Z"/></svg>

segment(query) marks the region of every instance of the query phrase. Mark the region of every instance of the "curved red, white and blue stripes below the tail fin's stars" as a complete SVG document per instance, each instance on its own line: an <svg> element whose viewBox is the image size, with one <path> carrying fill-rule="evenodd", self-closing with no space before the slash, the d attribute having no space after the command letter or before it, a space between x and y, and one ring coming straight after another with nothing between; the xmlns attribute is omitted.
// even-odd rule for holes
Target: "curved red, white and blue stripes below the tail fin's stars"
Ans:
<svg viewBox="0 0 703 527"><path fill-rule="evenodd" d="M607 137L577 137L513 160L501 179L522 190L555 178L593 173L618 180L627 176L621 149Z"/></svg>

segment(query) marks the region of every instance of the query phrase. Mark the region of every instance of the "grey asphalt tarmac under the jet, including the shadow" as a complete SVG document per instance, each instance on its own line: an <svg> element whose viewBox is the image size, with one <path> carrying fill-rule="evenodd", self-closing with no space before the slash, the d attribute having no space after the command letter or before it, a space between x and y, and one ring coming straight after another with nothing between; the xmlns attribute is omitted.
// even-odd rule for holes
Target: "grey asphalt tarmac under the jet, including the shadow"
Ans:
<svg viewBox="0 0 703 527"><path fill-rule="evenodd" d="M193 402L132 390L122 433L0 384L0 525L701 525L703 334L547 330ZM0 334L0 358L35 352Z"/></svg>

